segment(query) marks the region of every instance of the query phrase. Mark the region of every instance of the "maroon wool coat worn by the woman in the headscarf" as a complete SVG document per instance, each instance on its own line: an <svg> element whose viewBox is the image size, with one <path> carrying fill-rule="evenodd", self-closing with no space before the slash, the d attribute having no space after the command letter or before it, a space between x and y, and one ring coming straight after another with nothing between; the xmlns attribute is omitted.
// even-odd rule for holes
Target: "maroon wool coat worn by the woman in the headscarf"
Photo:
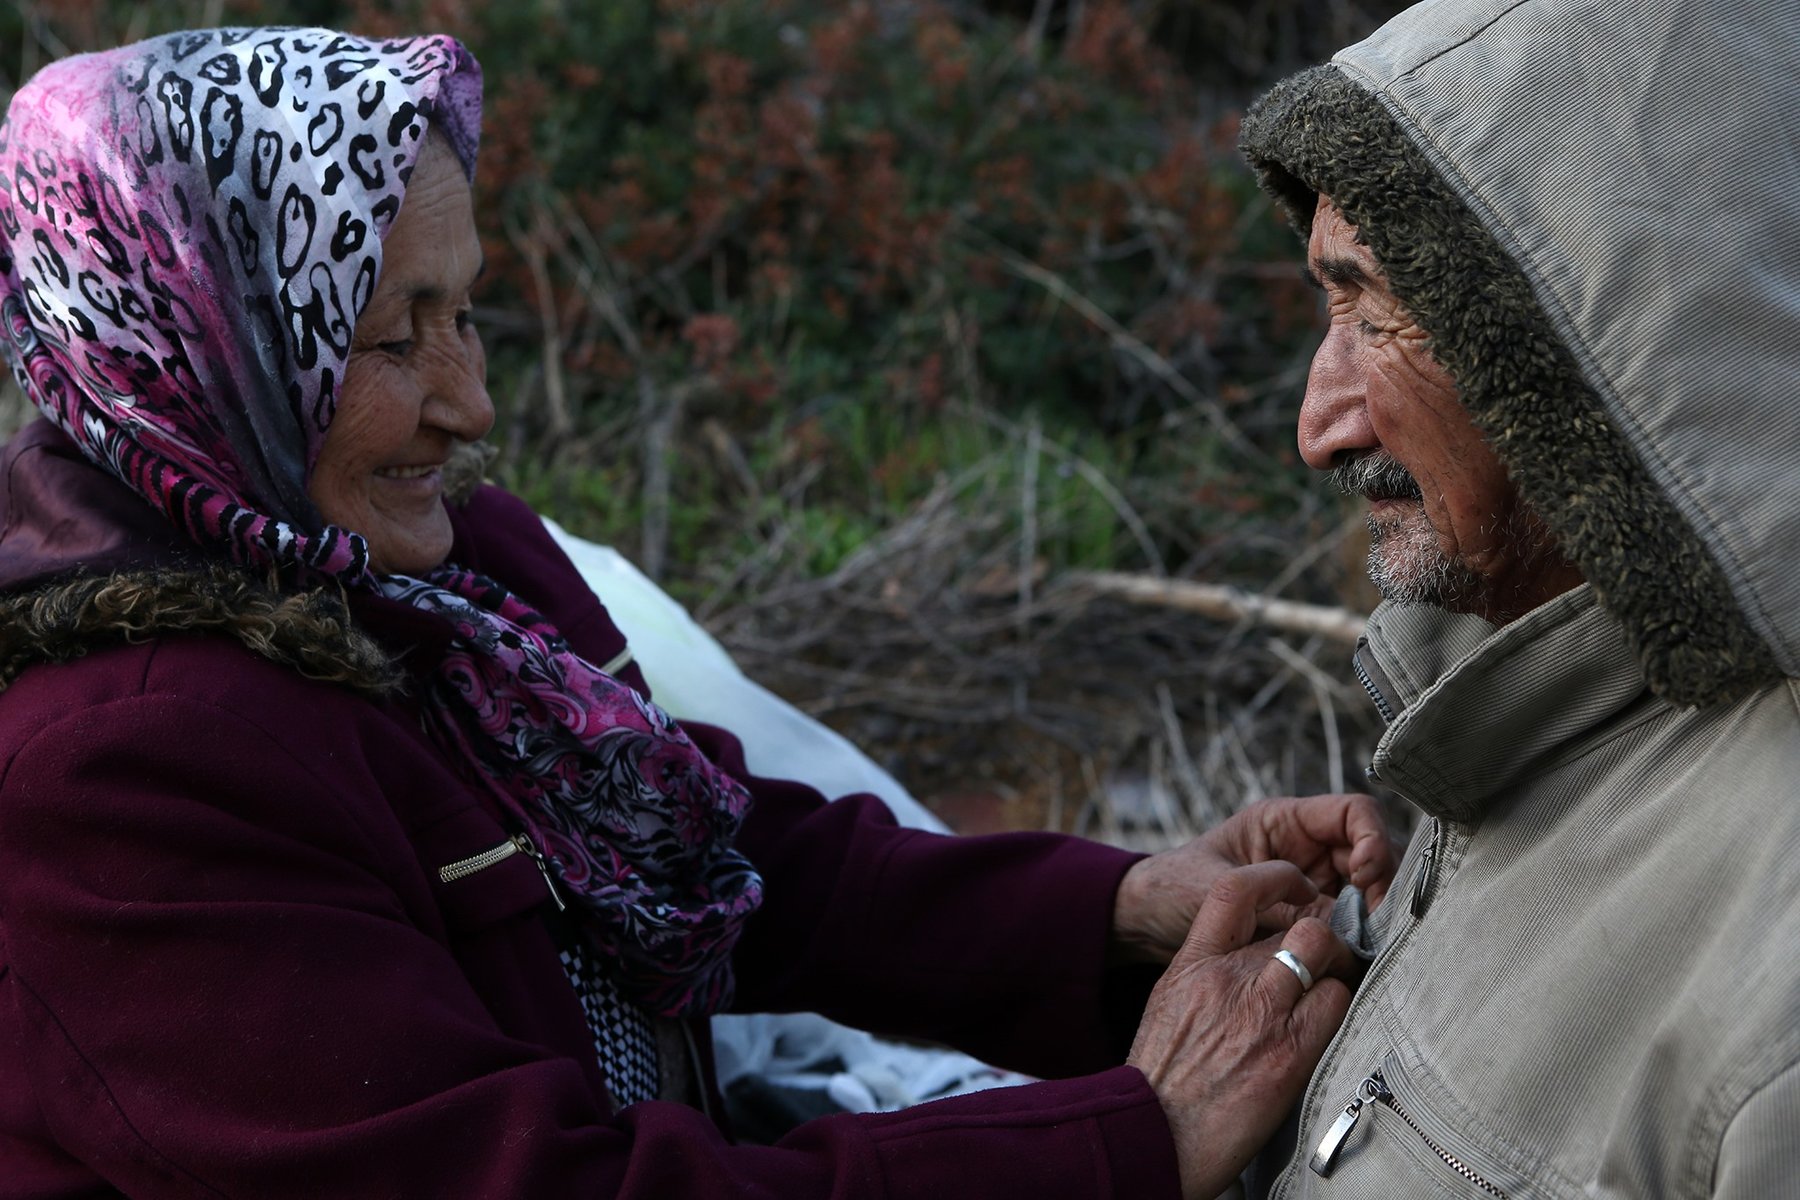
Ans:
<svg viewBox="0 0 1800 1200"><path fill-rule="evenodd" d="M169 551L70 453L34 426L0 461L0 588ZM484 489L457 529L457 561L587 658L623 648L518 500ZM412 610L356 612L410 669L441 649ZM747 775L729 734L689 732ZM740 1007L1093 1074L828 1117L774 1148L684 1105L614 1112L531 860L439 882L504 831L407 705L164 637L0 693L0 1198L1177 1195L1156 1096L1109 1038L1129 856L747 783L769 900Z"/></svg>

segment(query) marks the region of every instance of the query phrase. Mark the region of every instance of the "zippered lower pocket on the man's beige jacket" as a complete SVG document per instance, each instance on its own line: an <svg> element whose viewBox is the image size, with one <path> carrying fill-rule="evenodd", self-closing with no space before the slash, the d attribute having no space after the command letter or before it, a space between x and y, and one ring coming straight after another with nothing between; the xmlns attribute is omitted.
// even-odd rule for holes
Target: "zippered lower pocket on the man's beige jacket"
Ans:
<svg viewBox="0 0 1800 1200"><path fill-rule="evenodd" d="M1546 1191L1429 1106L1390 1052L1314 1135L1292 1195L1537 1200Z"/></svg>

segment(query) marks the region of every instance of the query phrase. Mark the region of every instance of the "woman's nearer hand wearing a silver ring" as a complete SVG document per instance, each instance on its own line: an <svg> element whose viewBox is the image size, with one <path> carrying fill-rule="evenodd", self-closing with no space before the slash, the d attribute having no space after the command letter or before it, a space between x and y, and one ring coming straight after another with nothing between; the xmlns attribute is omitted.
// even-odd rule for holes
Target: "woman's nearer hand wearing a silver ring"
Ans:
<svg viewBox="0 0 1800 1200"><path fill-rule="evenodd" d="M1168 972L1150 991L1127 1061L1163 1103L1181 1191L1222 1193L1274 1133L1350 1009L1361 963L1316 918L1256 937L1262 914L1307 905L1318 887L1292 864L1264 862L1213 883ZM1292 954L1314 977L1274 957Z"/></svg>

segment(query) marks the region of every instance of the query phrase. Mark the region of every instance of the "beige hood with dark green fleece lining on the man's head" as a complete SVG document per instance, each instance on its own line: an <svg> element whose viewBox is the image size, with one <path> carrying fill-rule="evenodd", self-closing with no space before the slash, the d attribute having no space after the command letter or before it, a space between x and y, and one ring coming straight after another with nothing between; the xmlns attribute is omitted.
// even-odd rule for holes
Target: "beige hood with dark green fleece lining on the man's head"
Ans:
<svg viewBox="0 0 1800 1200"><path fill-rule="evenodd" d="M1444 0L1271 90L1244 151L1354 221L1625 626L1714 703L1800 675L1800 9Z"/></svg>

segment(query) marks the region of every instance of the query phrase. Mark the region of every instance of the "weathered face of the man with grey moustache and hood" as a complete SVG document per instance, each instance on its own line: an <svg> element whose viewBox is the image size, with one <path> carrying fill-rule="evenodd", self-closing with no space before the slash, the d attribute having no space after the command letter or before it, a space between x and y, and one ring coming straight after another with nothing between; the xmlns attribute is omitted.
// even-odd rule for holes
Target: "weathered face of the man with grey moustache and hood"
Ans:
<svg viewBox="0 0 1800 1200"><path fill-rule="evenodd" d="M1300 455L1368 500L1381 594L1505 624L1579 585L1433 362L1426 331L1325 196L1307 266L1330 327L1307 378Z"/></svg>

